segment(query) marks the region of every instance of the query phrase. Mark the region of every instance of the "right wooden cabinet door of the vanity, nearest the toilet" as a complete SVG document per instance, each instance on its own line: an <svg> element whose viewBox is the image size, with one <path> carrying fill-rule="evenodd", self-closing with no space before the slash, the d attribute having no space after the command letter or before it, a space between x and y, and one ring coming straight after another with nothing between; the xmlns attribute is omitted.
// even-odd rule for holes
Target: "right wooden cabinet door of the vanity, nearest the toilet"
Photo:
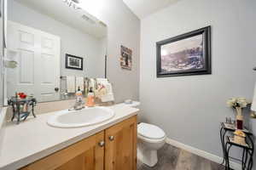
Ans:
<svg viewBox="0 0 256 170"><path fill-rule="evenodd" d="M137 170L137 116L105 130L105 170Z"/></svg>

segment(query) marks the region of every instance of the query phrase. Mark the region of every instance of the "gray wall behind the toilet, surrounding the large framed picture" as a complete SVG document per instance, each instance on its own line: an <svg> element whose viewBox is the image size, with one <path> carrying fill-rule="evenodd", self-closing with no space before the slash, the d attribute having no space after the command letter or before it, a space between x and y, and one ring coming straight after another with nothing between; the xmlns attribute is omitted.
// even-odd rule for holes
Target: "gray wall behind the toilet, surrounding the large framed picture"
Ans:
<svg viewBox="0 0 256 170"><path fill-rule="evenodd" d="M255 8L253 0L183 0L142 20L143 121L159 125L171 139L222 156L219 122L235 115L226 100L253 96ZM212 26L212 75L156 78L155 42L204 26Z"/></svg>

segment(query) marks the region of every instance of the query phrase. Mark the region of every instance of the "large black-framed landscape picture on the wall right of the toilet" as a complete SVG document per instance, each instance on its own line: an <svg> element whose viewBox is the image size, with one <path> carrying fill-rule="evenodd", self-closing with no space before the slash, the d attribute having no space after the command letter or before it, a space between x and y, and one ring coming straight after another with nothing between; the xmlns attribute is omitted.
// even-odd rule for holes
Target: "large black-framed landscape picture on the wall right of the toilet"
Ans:
<svg viewBox="0 0 256 170"><path fill-rule="evenodd" d="M211 26L156 42L157 77L211 74Z"/></svg>

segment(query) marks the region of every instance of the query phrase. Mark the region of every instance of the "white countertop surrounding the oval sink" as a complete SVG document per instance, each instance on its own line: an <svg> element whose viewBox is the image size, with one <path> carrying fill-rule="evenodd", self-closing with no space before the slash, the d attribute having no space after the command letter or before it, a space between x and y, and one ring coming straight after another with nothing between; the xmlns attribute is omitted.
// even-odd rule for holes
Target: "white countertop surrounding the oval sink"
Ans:
<svg viewBox="0 0 256 170"><path fill-rule="evenodd" d="M109 106L115 116L107 122L89 127L58 128L47 124L49 116L54 112L28 118L19 125L7 122L4 128L3 144L0 146L0 170L15 170L33 161L49 156L70 144L87 138L95 133L122 122L126 118L135 116L138 109L124 104Z"/></svg>

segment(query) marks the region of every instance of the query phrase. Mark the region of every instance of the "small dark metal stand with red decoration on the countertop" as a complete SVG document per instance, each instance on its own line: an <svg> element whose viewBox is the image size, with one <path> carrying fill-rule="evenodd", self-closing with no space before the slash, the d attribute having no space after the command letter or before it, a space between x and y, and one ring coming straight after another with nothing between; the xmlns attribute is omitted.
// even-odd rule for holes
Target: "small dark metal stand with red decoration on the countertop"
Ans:
<svg viewBox="0 0 256 170"><path fill-rule="evenodd" d="M17 124L20 123L20 120L25 121L26 118L32 113L34 117L34 107L37 104L37 100L32 96L27 97L24 93L15 94L15 97L12 97L8 100L8 104L13 108L13 116L11 121L17 119Z"/></svg>

